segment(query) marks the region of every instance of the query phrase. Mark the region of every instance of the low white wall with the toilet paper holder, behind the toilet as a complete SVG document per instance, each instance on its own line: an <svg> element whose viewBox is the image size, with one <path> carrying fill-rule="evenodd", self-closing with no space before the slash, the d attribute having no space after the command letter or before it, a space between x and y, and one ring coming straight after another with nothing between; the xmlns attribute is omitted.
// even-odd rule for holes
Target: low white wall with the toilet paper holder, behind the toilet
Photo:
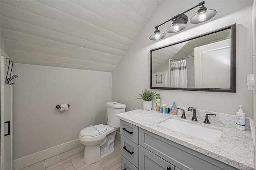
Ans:
<svg viewBox="0 0 256 170"><path fill-rule="evenodd" d="M106 123L111 73L14 64L14 160L75 139ZM56 105L70 104L60 112Z"/></svg>

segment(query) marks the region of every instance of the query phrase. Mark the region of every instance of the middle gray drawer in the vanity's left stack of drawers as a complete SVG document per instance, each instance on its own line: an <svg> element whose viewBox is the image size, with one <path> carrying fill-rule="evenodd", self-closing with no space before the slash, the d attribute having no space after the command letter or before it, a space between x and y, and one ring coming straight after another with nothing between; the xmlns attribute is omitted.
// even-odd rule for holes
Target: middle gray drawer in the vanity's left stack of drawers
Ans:
<svg viewBox="0 0 256 170"><path fill-rule="evenodd" d="M139 168L139 146L123 135L121 135L121 154Z"/></svg>

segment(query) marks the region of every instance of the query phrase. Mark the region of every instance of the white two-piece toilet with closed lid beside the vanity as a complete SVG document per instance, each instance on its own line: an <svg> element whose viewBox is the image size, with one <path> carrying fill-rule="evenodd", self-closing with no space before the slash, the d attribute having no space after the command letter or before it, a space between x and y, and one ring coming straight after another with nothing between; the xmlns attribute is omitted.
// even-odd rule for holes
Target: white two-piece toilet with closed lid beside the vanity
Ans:
<svg viewBox="0 0 256 170"><path fill-rule="evenodd" d="M108 125L92 125L80 131L78 139L85 145L84 163L93 164L114 152L116 130L120 127L116 114L125 112L125 107L125 104L108 102Z"/></svg>

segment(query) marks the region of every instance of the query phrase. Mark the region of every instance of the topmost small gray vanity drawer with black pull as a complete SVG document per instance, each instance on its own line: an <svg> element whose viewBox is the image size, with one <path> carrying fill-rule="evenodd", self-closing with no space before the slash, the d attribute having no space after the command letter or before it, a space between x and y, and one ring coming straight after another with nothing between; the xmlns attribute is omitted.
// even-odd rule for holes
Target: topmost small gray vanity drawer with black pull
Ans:
<svg viewBox="0 0 256 170"><path fill-rule="evenodd" d="M121 120L120 132L136 144L138 143L139 128L131 123Z"/></svg>

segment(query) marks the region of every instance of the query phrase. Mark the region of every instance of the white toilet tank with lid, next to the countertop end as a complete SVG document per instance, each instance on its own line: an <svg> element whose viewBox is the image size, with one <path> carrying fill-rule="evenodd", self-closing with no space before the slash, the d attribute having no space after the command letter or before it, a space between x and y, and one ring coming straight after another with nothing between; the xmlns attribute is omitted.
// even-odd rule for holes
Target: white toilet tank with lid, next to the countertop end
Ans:
<svg viewBox="0 0 256 170"><path fill-rule="evenodd" d="M125 104L107 102L108 125L120 127L120 119L116 117L116 114L125 112L125 107Z"/></svg>

